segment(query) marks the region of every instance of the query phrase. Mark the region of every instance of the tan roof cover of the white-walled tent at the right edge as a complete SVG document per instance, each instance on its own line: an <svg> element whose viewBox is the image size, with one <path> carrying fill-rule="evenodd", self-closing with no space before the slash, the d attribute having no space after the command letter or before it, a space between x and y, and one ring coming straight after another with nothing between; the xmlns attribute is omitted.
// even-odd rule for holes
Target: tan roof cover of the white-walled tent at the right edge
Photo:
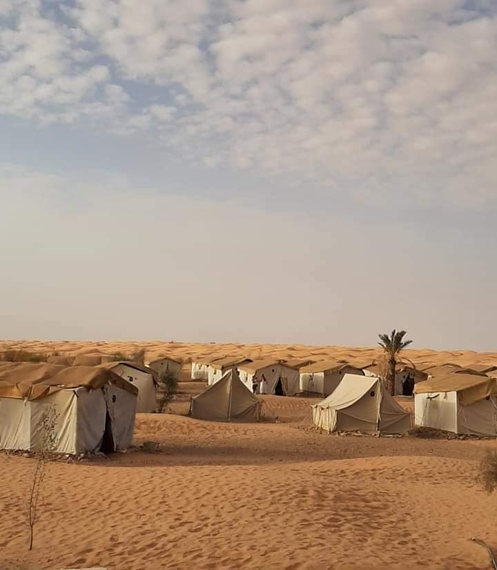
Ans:
<svg viewBox="0 0 497 570"><path fill-rule="evenodd" d="M433 392L458 392L460 403L469 406L470 403L497 394L497 379L480 374L447 374L445 377L431 378L414 386L415 394Z"/></svg>

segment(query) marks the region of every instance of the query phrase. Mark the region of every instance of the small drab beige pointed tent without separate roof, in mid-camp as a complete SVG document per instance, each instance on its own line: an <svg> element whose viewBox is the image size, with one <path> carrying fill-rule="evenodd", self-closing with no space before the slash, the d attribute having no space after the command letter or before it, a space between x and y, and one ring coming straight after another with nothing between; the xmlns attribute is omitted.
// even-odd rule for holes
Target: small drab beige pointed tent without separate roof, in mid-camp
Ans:
<svg viewBox="0 0 497 570"><path fill-rule="evenodd" d="M191 399L190 415L211 421L259 421L260 408L260 401L244 386L235 370L228 370L222 379Z"/></svg>

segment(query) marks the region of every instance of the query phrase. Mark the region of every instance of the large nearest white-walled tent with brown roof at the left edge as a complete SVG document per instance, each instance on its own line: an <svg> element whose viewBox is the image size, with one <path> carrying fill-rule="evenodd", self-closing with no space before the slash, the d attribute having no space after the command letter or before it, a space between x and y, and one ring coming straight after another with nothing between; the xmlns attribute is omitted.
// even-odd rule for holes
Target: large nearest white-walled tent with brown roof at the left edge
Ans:
<svg viewBox="0 0 497 570"><path fill-rule="evenodd" d="M46 450L47 439L55 453L126 449L137 392L105 368L1 363L0 449Z"/></svg>

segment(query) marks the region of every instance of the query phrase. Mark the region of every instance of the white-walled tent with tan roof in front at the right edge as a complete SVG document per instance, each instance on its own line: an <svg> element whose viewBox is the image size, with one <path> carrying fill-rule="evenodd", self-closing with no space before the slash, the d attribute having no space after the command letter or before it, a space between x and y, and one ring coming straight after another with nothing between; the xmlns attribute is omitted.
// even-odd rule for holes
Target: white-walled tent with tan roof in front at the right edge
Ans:
<svg viewBox="0 0 497 570"><path fill-rule="evenodd" d="M460 434L497 435L497 379L448 374L416 385L417 426Z"/></svg>

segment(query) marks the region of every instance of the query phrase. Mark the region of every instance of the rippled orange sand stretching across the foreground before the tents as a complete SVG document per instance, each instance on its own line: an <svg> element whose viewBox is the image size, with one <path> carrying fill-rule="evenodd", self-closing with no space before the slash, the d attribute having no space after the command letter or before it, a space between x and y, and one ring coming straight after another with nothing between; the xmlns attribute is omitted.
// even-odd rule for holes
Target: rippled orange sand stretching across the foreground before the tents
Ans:
<svg viewBox="0 0 497 570"><path fill-rule="evenodd" d="M47 465L31 553L34 462L0 455L0 570L489 568L469 538L497 547L497 496L476 482L495 441L324 435L303 398L263 397L260 424L199 421L182 392L137 416L159 453Z"/></svg>

